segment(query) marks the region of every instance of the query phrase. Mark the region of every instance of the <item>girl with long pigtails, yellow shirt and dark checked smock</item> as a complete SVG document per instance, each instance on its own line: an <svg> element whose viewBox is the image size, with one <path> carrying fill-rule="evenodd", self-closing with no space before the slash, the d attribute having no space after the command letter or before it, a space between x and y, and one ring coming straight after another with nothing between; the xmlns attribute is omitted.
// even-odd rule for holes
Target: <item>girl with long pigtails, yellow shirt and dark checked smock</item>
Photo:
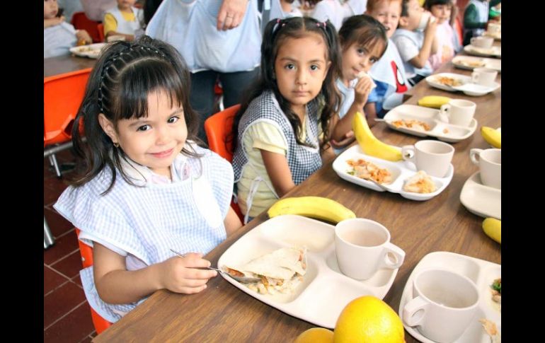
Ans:
<svg viewBox="0 0 545 343"><path fill-rule="evenodd" d="M245 221L321 167L339 103L337 44L331 23L308 17L265 27L260 79L233 123L233 168Z"/></svg>

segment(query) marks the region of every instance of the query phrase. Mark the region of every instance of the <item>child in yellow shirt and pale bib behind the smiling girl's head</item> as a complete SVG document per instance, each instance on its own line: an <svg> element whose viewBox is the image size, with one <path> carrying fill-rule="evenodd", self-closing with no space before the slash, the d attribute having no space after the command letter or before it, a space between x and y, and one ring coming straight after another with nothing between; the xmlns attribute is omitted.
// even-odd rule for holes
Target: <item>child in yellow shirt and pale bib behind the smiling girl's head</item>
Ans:
<svg viewBox="0 0 545 343"><path fill-rule="evenodd" d="M104 14L104 36L121 35L125 40L134 40L134 34L142 29L144 14L134 7L136 0L117 0L117 6Z"/></svg>

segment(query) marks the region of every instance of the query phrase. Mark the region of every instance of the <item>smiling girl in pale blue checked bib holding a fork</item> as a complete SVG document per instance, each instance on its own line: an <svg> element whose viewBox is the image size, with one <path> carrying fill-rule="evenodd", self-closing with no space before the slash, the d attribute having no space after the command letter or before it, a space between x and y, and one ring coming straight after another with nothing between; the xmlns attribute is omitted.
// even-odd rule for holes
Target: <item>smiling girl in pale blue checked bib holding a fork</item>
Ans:
<svg viewBox="0 0 545 343"><path fill-rule="evenodd" d="M159 40L112 43L76 117L74 150L84 170L54 208L93 246L93 267L81 281L91 307L110 322L158 289L205 289L217 273L199 269L210 266L202 255L241 226L229 207L231 165L190 140L199 118L189 106L189 78L180 54Z"/></svg>

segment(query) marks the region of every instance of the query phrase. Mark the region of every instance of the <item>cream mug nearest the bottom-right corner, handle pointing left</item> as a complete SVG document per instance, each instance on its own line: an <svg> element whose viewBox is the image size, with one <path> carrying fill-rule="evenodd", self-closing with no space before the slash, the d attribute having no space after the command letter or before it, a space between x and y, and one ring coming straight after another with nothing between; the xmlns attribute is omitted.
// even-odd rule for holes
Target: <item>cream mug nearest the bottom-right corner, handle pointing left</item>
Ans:
<svg viewBox="0 0 545 343"><path fill-rule="evenodd" d="M478 308L474 281L445 269L425 269L413 279L413 298L403 322L434 342L454 342L473 322Z"/></svg>

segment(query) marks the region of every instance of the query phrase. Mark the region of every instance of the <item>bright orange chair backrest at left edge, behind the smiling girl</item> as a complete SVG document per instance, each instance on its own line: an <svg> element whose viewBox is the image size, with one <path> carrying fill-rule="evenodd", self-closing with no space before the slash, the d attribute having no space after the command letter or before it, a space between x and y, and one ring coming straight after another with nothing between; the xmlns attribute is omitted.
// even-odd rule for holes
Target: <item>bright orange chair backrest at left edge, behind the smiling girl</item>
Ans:
<svg viewBox="0 0 545 343"><path fill-rule="evenodd" d="M71 139L89 74L91 68L44 78L44 146Z"/></svg>

